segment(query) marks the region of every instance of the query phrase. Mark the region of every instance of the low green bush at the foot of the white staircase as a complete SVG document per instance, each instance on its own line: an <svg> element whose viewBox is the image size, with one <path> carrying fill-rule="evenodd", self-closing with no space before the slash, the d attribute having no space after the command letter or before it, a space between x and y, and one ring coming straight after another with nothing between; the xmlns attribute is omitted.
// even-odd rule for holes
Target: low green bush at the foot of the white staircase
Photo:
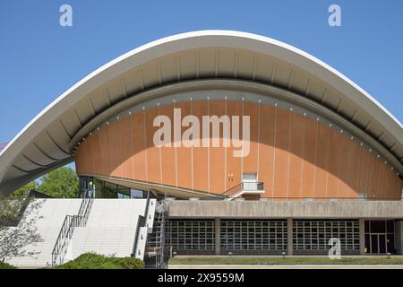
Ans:
<svg viewBox="0 0 403 287"><path fill-rule="evenodd" d="M96 253L84 253L80 257L57 269L143 269L144 264L140 259L133 257L106 257Z"/></svg>

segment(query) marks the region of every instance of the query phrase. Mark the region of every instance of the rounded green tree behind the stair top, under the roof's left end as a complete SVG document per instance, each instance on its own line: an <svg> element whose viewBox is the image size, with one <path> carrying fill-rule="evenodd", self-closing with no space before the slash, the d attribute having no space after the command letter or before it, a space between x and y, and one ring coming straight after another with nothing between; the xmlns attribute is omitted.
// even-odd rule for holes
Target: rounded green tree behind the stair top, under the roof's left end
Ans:
<svg viewBox="0 0 403 287"><path fill-rule="evenodd" d="M53 170L40 179L38 191L56 198L79 197L78 177L71 168Z"/></svg>

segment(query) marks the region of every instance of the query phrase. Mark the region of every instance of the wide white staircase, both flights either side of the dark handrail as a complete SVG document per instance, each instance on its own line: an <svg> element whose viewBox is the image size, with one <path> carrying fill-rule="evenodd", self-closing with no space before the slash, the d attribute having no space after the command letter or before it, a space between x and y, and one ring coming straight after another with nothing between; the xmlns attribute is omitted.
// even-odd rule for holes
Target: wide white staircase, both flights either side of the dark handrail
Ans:
<svg viewBox="0 0 403 287"><path fill-rule="evenodd" d="M9 263L23 268L51 266L55 247L64 217L77 214L81 199L44 199L36 223L43 241L26 248L32 256L13 257ZM139 215L146 211L147 199L94 199L85 227L76 227L67 248L64 262L85 252L107 256L130 257ZM150 199L145 227L139 231L136 257L143 259L145 242L152 229L156 200ZM35 256L34 256L35 255Z"/></svg>

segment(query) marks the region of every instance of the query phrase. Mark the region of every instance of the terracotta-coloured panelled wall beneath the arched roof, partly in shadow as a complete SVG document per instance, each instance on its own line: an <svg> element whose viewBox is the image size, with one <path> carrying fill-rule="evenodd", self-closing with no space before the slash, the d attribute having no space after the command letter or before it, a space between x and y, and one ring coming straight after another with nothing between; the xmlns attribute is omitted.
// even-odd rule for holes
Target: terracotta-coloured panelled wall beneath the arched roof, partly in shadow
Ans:
<svg viewBox="0 0 403 287"><path fill-rule="evenodd" d="M248 156L234 157L232 143L223 147L222 130L220 147L154 146L158 129L152 126L154 117L166 115L173 124L174 108L182 110L182 118L193 114L200 122L204 115L250 116ZM182 132L187 128L182 127ZM75 160L78 173L218 194L239 184L243 172L258 173L264 197L293 200L357 197L358 193L399 198L403 187L376 154L338 130L286 109L247 101L187 101L128 115L88 137Z"/></svg>

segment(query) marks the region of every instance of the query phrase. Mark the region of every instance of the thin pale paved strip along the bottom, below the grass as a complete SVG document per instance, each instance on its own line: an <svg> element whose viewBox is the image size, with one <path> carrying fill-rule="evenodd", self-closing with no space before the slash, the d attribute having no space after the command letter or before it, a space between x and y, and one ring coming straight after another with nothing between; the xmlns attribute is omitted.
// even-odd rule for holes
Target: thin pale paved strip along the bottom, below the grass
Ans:
<svg viewBox="0 0 403 287"><path fill-rule="evenodd" d="M403 265L168 265L168 269L403 269Z"/></svg>

